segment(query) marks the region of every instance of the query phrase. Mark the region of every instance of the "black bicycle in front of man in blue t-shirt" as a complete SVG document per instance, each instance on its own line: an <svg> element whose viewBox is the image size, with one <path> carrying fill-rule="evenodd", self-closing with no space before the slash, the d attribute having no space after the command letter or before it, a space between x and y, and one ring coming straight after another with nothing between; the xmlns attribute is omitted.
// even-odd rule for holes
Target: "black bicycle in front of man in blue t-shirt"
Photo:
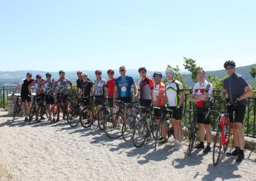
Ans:
<svg viewBox="0 0 256 181"><path fill-rule="evenodd" d="M131 103L116 101L115 112L110 113L104 120L104 132L109 138L117 139L122 136L122 124L124 124L127 108L131 108ZM123 113L125 110L125 113Z"/></svg>

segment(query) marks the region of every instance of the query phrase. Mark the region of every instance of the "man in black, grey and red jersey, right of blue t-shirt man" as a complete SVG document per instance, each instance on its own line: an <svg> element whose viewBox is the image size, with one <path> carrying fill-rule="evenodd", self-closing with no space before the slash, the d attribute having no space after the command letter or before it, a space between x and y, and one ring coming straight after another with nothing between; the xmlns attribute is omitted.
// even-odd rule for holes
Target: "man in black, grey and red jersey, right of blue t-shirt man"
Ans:
<svg viewBox="0 0 256 181"><path fill-rule="evenodd" d="M138 69L141 80L138 82L138 94L136 101L140 100L141 106L150 106L153 103L153 88L154 82L151 78L147 77L147 69L141 67Z"/></svg>

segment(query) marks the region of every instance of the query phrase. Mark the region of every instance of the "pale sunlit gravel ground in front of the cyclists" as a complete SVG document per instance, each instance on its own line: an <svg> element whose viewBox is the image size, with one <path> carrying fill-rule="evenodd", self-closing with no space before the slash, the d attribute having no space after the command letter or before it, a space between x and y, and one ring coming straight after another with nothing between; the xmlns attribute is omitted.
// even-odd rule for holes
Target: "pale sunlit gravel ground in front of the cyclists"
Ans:
<svg viewBox="0 0 256 181"><path fill-rule="evenodd" d="M67 122L10 121L0 112L0 162L13 180L256 180L256 154L246 150L240 164L212 154L181 150L152 141L135 148L132 142L111 140L95 124L84 129ZM1 179L1 177L0 177Z"/></svg>

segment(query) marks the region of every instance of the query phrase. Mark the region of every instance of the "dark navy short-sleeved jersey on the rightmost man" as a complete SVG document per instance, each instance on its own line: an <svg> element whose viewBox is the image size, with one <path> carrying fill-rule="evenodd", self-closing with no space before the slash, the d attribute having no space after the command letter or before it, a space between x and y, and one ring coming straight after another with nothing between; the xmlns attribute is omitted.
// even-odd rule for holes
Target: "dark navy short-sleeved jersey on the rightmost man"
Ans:
<svg viewBox="0 0 256 181"><path fill-rule="evenodd" d="M232 76L225 78L223 81L223 88L227 89L227 96L230 101L236 101L245 92L245 87L249 84L242 75L234 73ZM246 99L239 102L240 105L246 105Z"/></svg>

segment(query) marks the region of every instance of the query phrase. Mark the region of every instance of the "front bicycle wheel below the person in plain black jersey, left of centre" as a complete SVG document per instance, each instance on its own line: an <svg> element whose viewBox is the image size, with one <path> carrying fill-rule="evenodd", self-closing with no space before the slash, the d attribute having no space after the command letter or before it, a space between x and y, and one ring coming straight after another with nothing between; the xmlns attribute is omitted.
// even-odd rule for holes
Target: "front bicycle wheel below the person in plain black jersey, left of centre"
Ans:
<svg viewBox="0 0 256 181"><path fill-rule="evenodd" d="M85 107L80 113L79 121L84 128L92 126L94 122L94 112L91 107Z"/></svg>

